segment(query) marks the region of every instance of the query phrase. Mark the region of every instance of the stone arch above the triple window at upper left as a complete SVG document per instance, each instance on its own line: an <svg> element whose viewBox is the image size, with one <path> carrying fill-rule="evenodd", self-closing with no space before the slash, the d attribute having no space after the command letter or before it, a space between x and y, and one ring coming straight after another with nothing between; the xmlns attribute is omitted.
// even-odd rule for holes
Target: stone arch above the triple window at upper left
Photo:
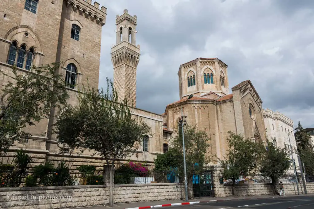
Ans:
<svg viewBox="0 0 314 209"><path fill-rule="evenodd" d="M27 33L28 36L32 37L27 42L27 45L30 47L33 47L36 52L40 52L41 54L44 54L41 40L39 36L35 33L35 31L28 25L19 25L12 29L10 29L5 35L4 39L9 40L10 42L13 40L16 40L18 44L24 43L22 41L23 35ZM25 43L26 44L26 43Z"/></svg>

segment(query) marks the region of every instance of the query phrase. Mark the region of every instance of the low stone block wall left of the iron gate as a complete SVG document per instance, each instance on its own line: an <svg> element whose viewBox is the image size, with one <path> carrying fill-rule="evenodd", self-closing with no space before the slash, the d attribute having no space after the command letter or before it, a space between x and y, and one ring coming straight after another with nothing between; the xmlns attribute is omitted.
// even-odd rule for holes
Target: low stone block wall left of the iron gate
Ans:
<svg viewBox="0 0 314 209"><path fill-rule="evenodd" d="M173 200L183 196L183 184L128 184L115 185L113 201L117 204ZM104 185L0 188L0 208L3 209L68 208L108 203L109 188Z"/></svg>

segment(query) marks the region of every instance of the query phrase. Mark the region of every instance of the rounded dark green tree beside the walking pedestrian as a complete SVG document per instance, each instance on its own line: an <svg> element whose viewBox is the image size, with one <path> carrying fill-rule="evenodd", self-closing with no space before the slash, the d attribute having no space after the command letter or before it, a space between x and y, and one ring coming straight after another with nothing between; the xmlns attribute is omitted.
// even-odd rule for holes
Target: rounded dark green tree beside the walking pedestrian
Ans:
<svg viewBox="0 0 314 209"><path fill-rule="evenodd" d="M271 178L273 182L273 193L278 193L278 181L289 169L291 162L286 149L277 148L275 144L268 141L268 150L263 153L260 162L260 172L263 176Z"/></svg>

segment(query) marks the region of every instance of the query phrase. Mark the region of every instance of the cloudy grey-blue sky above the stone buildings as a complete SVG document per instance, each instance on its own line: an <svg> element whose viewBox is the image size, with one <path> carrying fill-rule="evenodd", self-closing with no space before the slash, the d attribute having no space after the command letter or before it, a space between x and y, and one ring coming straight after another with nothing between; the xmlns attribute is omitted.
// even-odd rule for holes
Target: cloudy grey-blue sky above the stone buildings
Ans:
<svg viewBox="0 0 314 209"><path fill-rule="evenodd" d="M100 86L113 79L115 17L137 15L137 107L163 113L179 100L180 64L218 57L229 87L251 80L263 108L314 127L314 1L97 0L107 10L102 30ZM231 92L230 92L231 93Z"/></svg>

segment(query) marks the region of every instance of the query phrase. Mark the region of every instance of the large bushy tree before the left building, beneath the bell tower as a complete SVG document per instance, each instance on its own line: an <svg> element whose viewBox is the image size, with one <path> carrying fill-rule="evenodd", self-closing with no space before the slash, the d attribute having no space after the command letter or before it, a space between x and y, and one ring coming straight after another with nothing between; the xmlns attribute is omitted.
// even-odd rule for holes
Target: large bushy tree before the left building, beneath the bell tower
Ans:
<svg viewBox="0 0 314 209"><path fill-rule="evenodd" d="M106 93L89 86L83 88L83 92L78 94L75 107L69 105L57 117L55 128L60 152L72 153L78 149L82 153L89 149L104 157L110 168L112 205L114 164L117 159L133 154L150 128L141 119L133 117L126 99L122 104L118 103L117 92L108 78Z"/></svg>

